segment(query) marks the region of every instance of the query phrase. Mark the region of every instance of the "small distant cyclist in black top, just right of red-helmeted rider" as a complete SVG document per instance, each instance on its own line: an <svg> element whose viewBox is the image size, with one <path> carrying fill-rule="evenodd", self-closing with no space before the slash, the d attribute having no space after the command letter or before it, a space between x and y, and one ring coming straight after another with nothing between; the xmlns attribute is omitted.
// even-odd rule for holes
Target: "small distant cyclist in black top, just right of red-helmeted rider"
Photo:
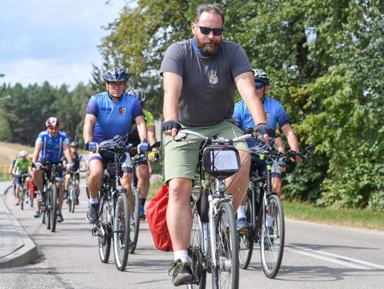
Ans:
<svg viewBox="0 0 384 289"><path fill-rule="evenodd" d="M75 205L79 205L79 195L80 195L80 173L78 170L82 169L85 170L87 168L87 164L85 163L84 158L82 158L82 155L78 153L78 142L77 141L71 141L70 142L70 154L73 159L73 167L71 170L74 173L75 178L75 185L76 185L76 200ZM63 164L68 163L66 158L63 158ZM68 197L68 187L70 185L70 181L72 180L72 174L70 173L70 170L67 170L65 172L65 185L64 185L64 195L65 197Z"/></svg>

